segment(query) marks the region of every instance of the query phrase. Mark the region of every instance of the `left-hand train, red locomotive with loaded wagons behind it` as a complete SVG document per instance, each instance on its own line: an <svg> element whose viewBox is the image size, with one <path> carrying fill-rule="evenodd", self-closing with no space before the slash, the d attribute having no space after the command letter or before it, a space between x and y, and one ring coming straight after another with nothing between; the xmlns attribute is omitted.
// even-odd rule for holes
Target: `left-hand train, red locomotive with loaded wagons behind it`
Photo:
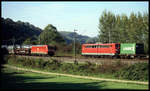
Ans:
<svg viewBox="0 0 150 91"><path fill-rule="evenodd" d="M49 55L53 56L56 51L55 46L50 45L2 45L9 54L16 55Z"/></svg>

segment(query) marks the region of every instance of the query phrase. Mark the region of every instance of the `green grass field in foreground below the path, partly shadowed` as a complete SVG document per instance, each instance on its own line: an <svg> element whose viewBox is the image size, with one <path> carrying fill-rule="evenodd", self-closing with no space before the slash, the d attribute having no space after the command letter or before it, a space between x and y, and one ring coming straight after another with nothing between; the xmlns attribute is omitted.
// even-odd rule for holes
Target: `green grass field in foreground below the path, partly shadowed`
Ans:
<svg viewBox="0 0 150 91"><path fill-rule="evenodd" d="M4 68L0 89L148 89L148 85L45 75Z"/></svg>

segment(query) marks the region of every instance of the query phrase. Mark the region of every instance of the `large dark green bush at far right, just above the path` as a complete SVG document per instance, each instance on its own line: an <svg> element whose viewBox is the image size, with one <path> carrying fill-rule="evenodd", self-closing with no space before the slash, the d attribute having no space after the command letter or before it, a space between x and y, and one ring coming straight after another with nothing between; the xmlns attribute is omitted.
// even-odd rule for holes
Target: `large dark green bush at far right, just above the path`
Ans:
<svg viewBox="0 0 150 91"><path fill-rule="evenodd" d="M129 67L124 67L115 76L129 80L148 80L148 63L136 63Z"/></svg>

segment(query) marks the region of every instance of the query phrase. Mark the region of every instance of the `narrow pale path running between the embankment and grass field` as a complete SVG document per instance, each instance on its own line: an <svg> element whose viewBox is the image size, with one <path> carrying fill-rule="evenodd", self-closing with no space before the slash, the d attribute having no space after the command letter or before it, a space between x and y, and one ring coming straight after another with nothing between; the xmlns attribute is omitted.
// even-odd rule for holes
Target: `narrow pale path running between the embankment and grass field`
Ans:
<svg viewBox="0 0 150 91"><path fill-rule="evenodd" d="M83 79L92 79L92 80L103 80L103 81L112 81L112 82L123 82L123 83L136 83L136 84L148 84L148 82L140 82L140 81L129 81L129 80L117 80L117 79L105 79L105 78L96 78L96 77L89 77L89 76L79 76L79 75L70 75L70 74L61 74L61 73L51 73L51 72L42 72L38 70L26 69L26 68L19 68L11 65L4 65L5 67L9 67L12 69L23 70L23 71L30 71L40 74L47 74L47 75L60 75L60 76L69 76L75 78L83 78Z"/></svg>

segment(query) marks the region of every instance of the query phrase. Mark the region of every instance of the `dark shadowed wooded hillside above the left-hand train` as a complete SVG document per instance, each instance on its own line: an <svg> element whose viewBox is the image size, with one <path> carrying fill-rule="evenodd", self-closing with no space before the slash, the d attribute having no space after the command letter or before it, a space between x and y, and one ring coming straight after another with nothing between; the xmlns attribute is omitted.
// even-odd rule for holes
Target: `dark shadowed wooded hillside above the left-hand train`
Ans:
<svg viewBox="0 0 150 91"><path fill-rule="evenodd" d="M12 44L13 39L15 43L21 44L27 38L35 39L42 30L28 22L17 21L14 22L12 19L1 18L2 30L1 39L2 44Z"/></svg>

